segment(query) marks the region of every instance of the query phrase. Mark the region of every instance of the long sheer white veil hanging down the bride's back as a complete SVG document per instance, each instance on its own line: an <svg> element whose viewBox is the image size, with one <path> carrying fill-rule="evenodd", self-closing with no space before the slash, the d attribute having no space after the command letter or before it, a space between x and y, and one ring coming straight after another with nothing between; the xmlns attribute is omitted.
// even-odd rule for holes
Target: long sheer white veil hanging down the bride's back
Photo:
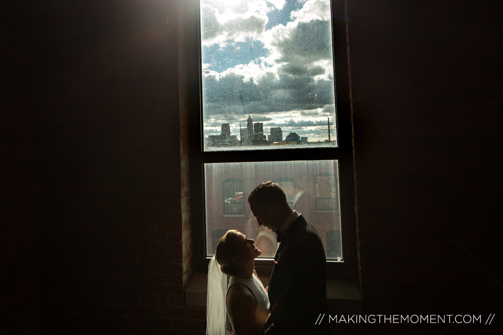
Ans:
<svg viewBox="0 0 503 335"><path fill-rule="evenodd" d="M206 295L206 335L229 335L227 322L227 276L220 271L215 256L208 265L208 289Z"/></svg>

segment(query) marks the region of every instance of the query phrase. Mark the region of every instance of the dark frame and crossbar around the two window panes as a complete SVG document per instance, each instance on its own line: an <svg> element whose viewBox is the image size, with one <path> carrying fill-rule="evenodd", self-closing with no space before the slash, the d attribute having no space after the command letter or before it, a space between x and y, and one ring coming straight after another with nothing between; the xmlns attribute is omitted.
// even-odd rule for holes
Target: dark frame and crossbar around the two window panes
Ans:
<svg viewBox="0 0 503 335"><path fill-rule="evenodd" d="M200 2L189 0L187 22L187 69L189 86L189 168L192 225L192 266L206 273L209 259L205 246L204 164L249 161L337 160L344 263L327 261L327 278L357 278L357 244L353 165L353 127L351 122L345 2L331 1L334 89L338 147L288 148L271 150L203 151L202 71L200 42ZM247 201L247 199L245 199ZM272 260L256 260L259 275L269 276Z"/></svg>

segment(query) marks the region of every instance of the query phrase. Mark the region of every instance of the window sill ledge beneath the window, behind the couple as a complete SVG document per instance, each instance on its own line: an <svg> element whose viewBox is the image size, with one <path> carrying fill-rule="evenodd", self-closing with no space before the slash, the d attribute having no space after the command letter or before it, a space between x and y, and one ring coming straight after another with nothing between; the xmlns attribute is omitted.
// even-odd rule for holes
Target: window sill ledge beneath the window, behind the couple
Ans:
<svg viewBox="0 0 503 335"><path fill-rule="evenodd" d="M259 276L266 287L269 277ZM194 273L185 292L185 304L192 307L206 307L206 287L208 276L202 273ZM328 300L361 300L360 285L357 280L351 279L327 279L326 297Z"/></svg>

